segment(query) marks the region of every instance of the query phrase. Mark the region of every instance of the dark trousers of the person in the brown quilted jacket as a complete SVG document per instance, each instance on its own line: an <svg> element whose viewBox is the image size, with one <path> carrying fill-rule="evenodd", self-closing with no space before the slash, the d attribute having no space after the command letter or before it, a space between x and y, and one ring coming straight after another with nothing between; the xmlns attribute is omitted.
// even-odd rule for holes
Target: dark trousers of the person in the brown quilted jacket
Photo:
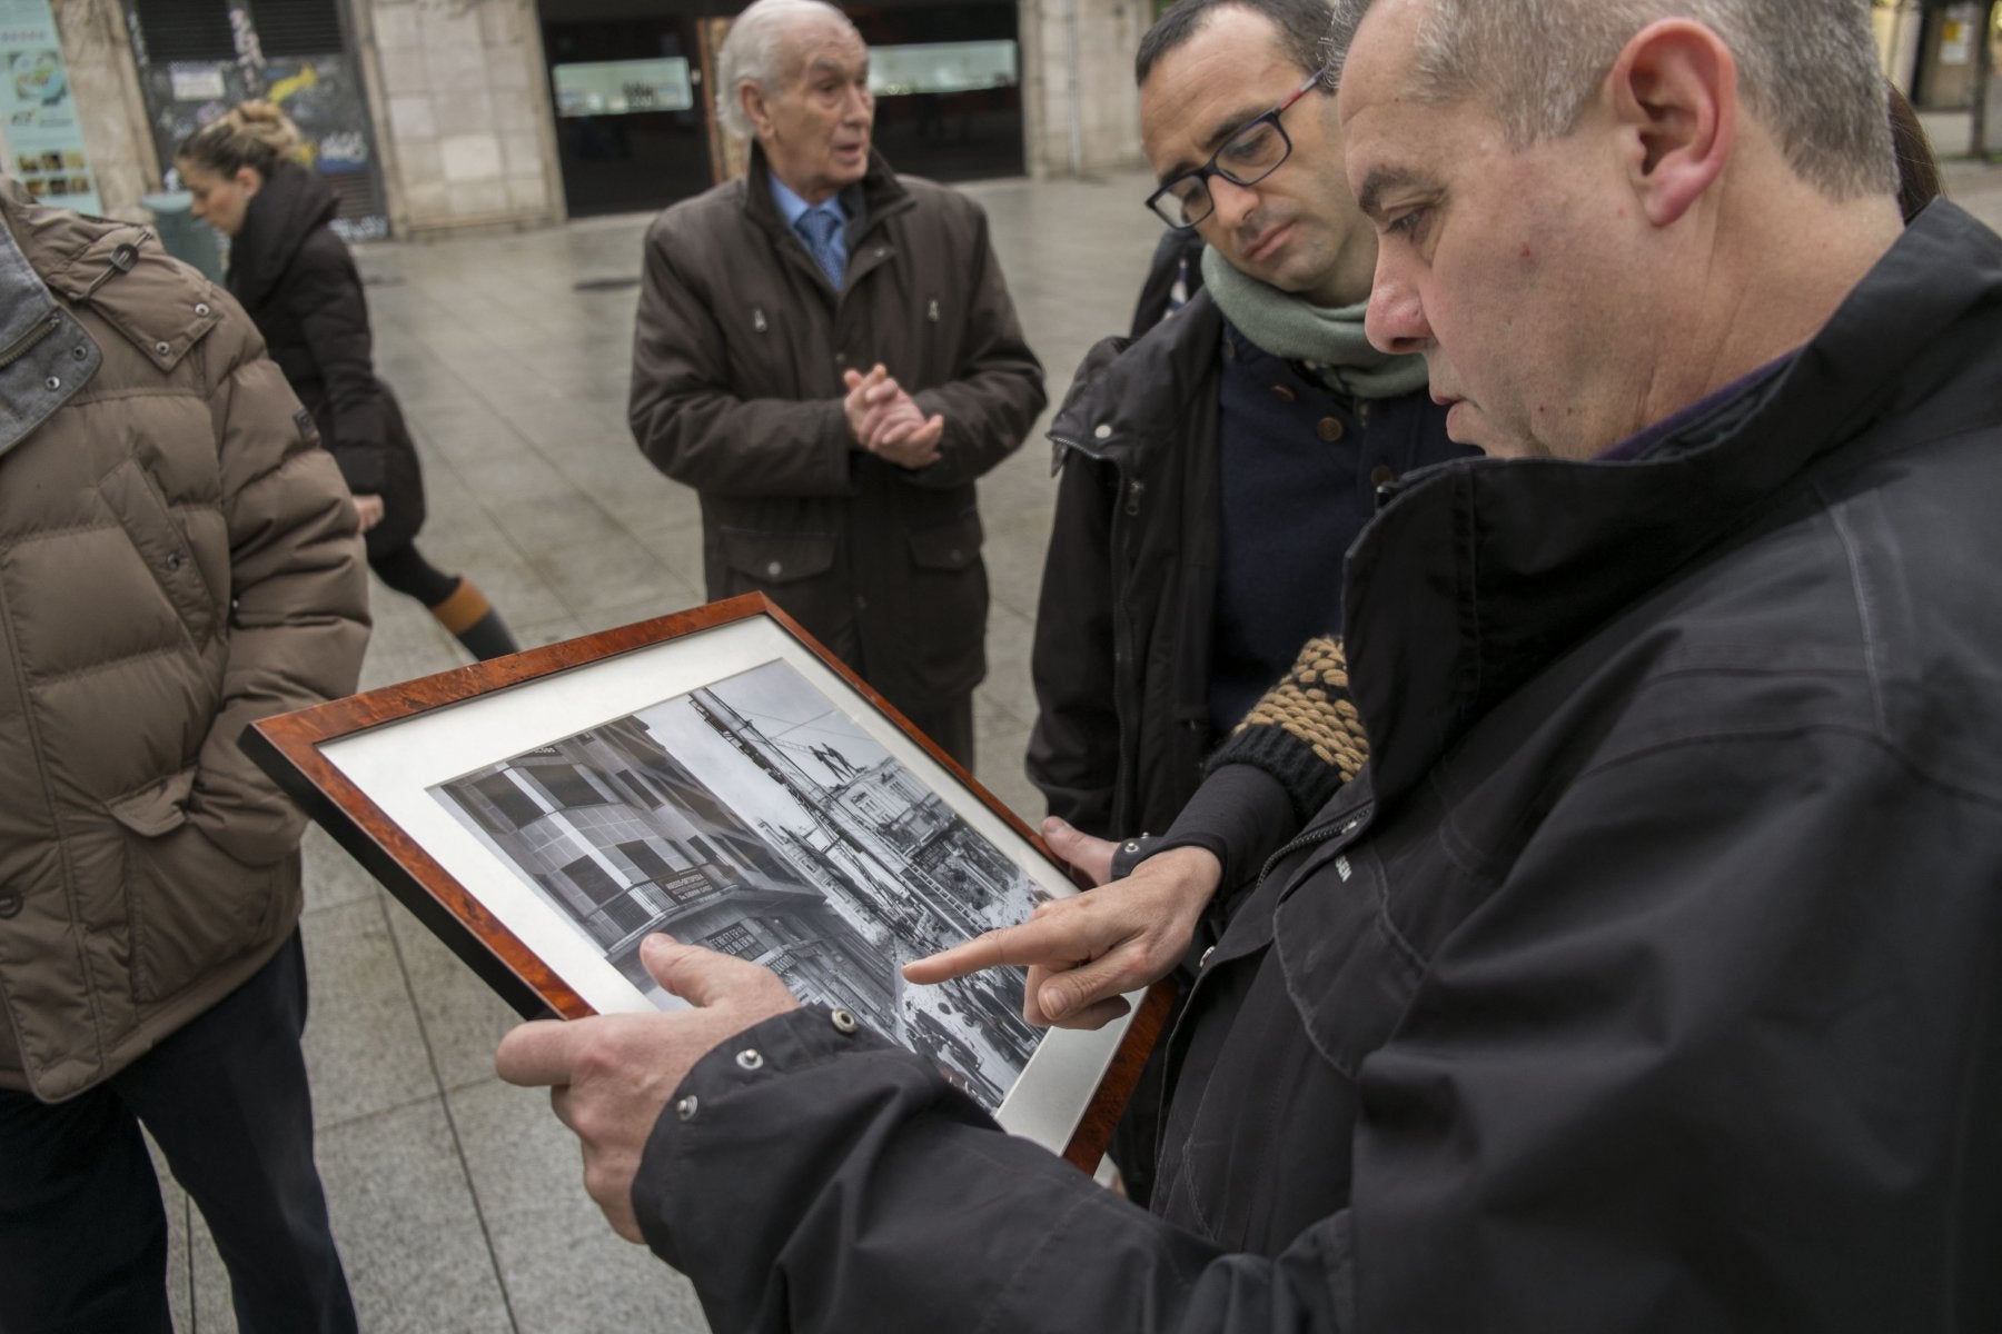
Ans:
<svg viewBox="0 0 2002 1334"><path fill-rule="evenodd" d="M140 1122L202 1210L242 1334L350 1334L312 1166L298 932L248 982L68 1102L0 1090L0 1334L172 1334Z"/></svg>

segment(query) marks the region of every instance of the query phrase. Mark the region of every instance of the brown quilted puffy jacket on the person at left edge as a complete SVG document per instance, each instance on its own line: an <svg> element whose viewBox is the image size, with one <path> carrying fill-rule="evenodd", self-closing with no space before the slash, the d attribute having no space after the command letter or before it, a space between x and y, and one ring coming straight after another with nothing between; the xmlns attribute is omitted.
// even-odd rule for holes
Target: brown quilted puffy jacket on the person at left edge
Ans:
<svg viewBox="0 0 2002 1334"><path fill-rule="evenodd" d="M72 1096L298 918L236 744L354 688L354 514L242 310L150 232L0 186L0 1086Z"/></svg>

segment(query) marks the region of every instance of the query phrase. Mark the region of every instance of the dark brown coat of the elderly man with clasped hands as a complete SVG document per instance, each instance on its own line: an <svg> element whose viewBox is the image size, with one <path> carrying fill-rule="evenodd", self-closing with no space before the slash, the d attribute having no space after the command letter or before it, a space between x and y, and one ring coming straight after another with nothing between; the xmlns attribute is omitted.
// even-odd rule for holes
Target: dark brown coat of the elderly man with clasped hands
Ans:
<svg viewBox="0 0 2002 1334"><path fill-rule="evenodd" d="M703 502L711 598L761 590L893 704L963 696L987 670L987 570L973 480L1043 410L987 216L871 158L851 190L835 292L749 180L675 204L647 232L629 404L639 448ZM841 372L883 362L941 458L909 470L849 448Z"/></svg>

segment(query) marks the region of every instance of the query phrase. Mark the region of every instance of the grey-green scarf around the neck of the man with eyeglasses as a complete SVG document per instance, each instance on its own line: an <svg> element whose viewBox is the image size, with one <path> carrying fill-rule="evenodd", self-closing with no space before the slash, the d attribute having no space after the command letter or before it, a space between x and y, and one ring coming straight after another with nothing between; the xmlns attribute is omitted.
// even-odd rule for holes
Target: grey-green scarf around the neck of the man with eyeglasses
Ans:
<svg viewBox="0 0 2002 1334"><path fill-rule="evenodd" d="M1339 310L1315 306L1237 272L1215 246L1203 246L1203 286L1223 318L1253 346L1299 362L1337 394L1397 398L1425 388L1423 356L1397 356L1369 346L1363 334L1367 302Z"/></svg>

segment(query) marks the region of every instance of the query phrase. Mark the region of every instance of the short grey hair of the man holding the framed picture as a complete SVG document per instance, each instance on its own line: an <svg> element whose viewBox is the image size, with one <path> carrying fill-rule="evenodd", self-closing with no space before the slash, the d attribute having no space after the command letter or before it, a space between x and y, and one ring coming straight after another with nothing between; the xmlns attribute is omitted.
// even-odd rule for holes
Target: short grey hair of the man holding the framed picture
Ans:
<svg viewBox="0 0 2002 1334"><path fill-rule="evenodd" d="M1333 0L1337 72L1369 4ZM1409 92L1483 98L1516 146L1562 138L1628 40L1660 18L1692 18L1724 38L1744 104L1772 126L1802 180L1834 200L1896 192L1864 0L1429 0Z"/></svg>

